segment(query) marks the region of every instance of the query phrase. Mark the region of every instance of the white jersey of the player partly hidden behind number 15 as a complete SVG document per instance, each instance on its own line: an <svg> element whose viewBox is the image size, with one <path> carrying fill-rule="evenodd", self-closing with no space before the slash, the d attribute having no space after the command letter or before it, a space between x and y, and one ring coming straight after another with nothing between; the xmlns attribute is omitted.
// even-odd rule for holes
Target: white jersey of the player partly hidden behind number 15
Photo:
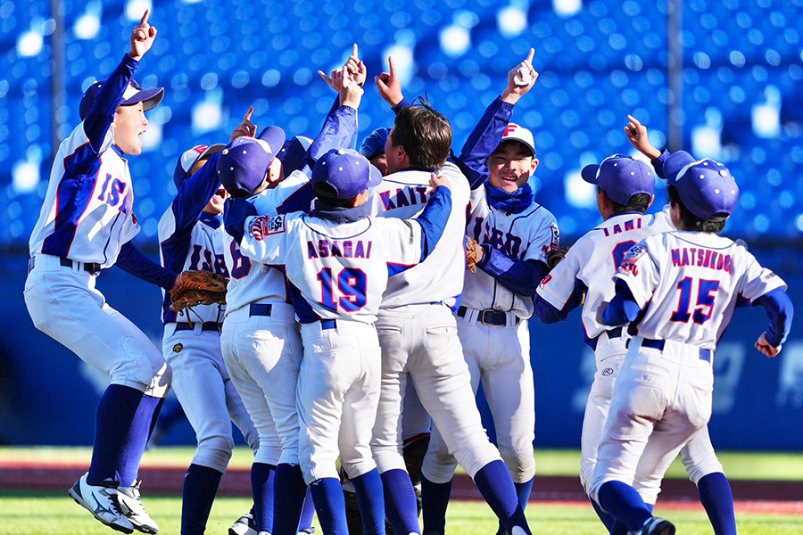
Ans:
<svg viewBox="0 0 803 535"><path fill-rule="evenodd" d="M545 276L536 292L556 309L563 309L576 292L587 289L583 327L589 339L610 327L597 322L597 309L616 294L613 276L625 253L649 235L675 230L665 212L628 212L611 216L572 245L566 257Z"/></svg>

